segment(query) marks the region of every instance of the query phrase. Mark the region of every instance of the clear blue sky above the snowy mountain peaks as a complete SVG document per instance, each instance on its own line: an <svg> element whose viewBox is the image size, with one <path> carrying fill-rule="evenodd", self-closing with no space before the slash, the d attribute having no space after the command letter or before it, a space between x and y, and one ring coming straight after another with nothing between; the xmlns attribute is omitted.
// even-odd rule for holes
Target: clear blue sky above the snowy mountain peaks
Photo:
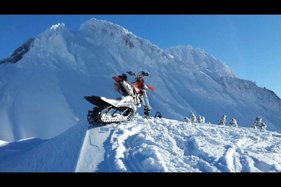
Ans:
<svg viewBox="0 0 281 187"><path fill-rule="evenodd" d="M191 45L281 97L281 15L0 15L0 59L29 37L64 22L78 30L91 18L107 20L162 49Z"/></svg>

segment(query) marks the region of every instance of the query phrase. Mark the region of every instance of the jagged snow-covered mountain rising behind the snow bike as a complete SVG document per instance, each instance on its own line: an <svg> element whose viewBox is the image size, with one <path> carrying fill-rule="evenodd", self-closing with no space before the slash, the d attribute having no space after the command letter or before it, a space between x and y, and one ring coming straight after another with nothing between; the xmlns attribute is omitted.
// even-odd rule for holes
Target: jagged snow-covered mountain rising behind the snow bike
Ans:
<svg viewBox="0 0 281 187"><path fill-rule="evenodd" d="M160 111L165 118L182 120L192 110L212 123L225 114L227 124L233 117L244 127L261 116L267 130L281 132L281 101L274 92L237 78L201 49L163 50L104 20L88 20L78 31L53 25L10 58L19 60L4 59L0 65L3 141L61 134L93 108L84 96L119 97L111 77L126 71L150 72L145 83L156 90L148 92L151 116Z"/></svg>

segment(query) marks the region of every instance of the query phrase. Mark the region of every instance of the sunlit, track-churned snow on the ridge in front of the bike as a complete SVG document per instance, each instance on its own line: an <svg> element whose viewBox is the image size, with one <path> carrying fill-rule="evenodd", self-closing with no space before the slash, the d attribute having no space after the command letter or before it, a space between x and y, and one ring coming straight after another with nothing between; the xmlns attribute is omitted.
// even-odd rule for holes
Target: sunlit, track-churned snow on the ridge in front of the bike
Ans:
<svg viewBox="0 0 281 187"><path fill-rule="evenodd" d="M280 134L144 119L89 127L76 172L281 172Z"/></svg>

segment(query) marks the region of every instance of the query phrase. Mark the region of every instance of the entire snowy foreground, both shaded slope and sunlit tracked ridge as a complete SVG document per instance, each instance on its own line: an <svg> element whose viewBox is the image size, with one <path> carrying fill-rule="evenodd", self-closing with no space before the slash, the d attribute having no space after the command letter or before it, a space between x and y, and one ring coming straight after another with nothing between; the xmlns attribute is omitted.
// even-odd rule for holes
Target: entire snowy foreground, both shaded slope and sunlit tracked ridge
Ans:
<svg viewBox="0 0 281 187"><path fill-rule="evenodd" d="M144 119L0 147L0 172L281 172L281 134Z"/></svg>

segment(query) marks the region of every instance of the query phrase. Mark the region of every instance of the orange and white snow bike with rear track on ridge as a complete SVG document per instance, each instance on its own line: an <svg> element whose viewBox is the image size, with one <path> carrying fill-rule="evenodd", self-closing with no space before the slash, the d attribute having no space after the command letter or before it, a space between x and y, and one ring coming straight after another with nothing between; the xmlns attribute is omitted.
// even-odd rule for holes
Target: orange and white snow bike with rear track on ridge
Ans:
<svg viewBox="0 0 281 187"><path fill-rule="evenodd" d="M147 118L150 112L150 105L146 95L146 91L150 89L155 91L151 86L145 85L142 76L148 76L149 72L143 71L135 74L134 72L127 72L129 75L135 77L135 82L129 82L127 75L122 74L118 77L112 77L115 91L121 93L123 96L117 99L108 99L98 96L85 96L84 98L96 105L93 110L88 111L87 119L89 124L106 124L111 122L124 122L130 120L137 108L141 107L143 103L144 117ZM146 104L145 104L146 103Z"/></svg>

